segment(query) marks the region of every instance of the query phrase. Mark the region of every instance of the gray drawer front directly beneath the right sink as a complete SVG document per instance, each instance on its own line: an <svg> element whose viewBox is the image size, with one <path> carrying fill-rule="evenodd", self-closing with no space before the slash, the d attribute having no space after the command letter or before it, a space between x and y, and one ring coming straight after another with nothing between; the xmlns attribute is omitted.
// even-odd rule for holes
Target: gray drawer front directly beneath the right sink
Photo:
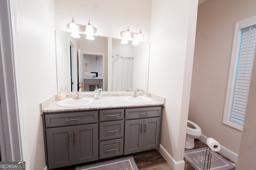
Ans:
<svg viewBox="0 0 256 170"><path fill-rule="evenodd" d="M125 109L125 119L139 119L145 117L159 117L161 116L162 107L142 107Z"/></svg>

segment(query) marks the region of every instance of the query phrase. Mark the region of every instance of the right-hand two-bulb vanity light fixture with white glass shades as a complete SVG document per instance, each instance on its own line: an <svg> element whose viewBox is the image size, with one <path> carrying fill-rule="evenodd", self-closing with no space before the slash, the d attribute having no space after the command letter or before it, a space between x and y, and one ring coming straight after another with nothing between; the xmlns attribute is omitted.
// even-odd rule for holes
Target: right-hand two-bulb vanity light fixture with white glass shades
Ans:
<svg viewBox="0 0 256 170"><path fill-rule="evenodd" d="M122 37L122 44L127 44L128 40L132 40L132 45L139 45L138 42L143 42L143 35L141 29L139 33L130 32L129 27L127 27L126 31L121 31L120 36Z"/></svg>

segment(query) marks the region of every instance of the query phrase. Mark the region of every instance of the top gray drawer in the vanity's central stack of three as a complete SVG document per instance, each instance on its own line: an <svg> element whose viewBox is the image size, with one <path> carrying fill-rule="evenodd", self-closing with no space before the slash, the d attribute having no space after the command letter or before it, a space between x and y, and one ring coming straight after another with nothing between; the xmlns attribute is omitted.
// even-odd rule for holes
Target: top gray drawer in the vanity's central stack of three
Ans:
<svg viewBox="0 0 256 170"><path fill-rule="evenodd" d="M124 119L124 109L100 110L100 121L113 121Z"/></svg>

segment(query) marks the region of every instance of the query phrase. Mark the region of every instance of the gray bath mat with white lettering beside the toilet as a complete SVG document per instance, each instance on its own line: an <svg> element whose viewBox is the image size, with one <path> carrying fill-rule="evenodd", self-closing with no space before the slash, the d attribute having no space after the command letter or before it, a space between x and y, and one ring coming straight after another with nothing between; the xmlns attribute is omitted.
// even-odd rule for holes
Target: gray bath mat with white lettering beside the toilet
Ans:
<svg viewBox="0 0 256 170"><path fill-rule="evenodd" d="M206 170L208 153L209 153L209 149L206 155L205 166L204 166L204 158L206 154L206 148L186 150L184 152L184 158L195 170L202 170L203 168L204 170ZM212 154L212 160L210 164L210 170L230 170L236 167L235 164L228 162L226 159L222 158L220 155L218 155L216 152L212 150L211 150L211 154Z"/></svg>

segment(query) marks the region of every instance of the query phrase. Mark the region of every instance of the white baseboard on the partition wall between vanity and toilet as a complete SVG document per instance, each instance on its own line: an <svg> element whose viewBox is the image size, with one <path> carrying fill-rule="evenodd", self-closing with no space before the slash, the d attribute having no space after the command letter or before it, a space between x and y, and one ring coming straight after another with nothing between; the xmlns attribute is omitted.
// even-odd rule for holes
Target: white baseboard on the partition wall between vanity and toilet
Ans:
<svg viewBox="0 0 256 170"><path fill-rule="evenodd" d="M164 157L166 162L172 167L173 170L184 170L185 162L184 160L176 162L174 158L164 149L162 145L159 145L158 151Z"/></svg>

